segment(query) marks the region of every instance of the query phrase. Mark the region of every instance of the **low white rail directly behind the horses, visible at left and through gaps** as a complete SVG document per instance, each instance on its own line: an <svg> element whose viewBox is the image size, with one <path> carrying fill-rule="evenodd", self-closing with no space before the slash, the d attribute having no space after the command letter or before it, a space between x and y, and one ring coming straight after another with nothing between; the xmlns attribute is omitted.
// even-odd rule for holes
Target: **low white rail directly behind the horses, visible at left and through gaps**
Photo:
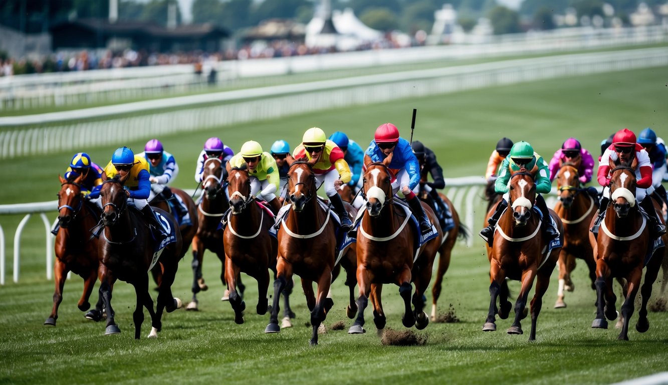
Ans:
<svg viewBox="0 0 668 385"><path fill-rule="evenodd" d="M446 189L444 193L452 201L452 205L460 214L460 221L468 227L470 234L467 242L468 247L472 247L474 239L478 239L478 231L482 228L484 221L486 202L483 200L486 181L482 176L465 176L462 178L446 178ZM193 195L194 190L186 190L186 193ZM556 194L550 195L546 199L548 205L553 207L556 203ZM28 220L33 214L39 214L45 229L45 255L46 255L46 279L51 280L53 274L53 239L51 228L55 225L49 222L46 213L53 213L58 206L57 201L41 203L21 203L18 205L0 205L0 218L3 215L21 215L19 226L14 234L13 249L13 281L19 281L19 271L21 265L21 235ZM477 226L478 224L479 226ZM0 225L0 285L5 284L5 233Z"/></svg>

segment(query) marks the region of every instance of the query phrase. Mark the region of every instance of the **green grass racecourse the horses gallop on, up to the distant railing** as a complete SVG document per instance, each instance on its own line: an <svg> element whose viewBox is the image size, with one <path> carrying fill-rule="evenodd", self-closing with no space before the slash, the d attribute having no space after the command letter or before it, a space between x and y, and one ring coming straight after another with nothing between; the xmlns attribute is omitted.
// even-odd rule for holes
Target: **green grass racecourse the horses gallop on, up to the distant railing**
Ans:
<svg viewBox="0 0 668 385"><path fill-rule="evenodd" d="M320 126L327 134L343 130L365 146L383 122L394 122L403 136L409 136L411 110L418 108L414 138L436 151L446 176L482 174L501 136L528 140L547 158L568 136L579 138L595 156L599 142L619 128L639 132L652 126L659 136L667 136L667 75L667 68L654 68L565 78L314 112L160 140L179 161L176 186L194 188L194 162L209 136L220 136L234 150L251 139L266 148L278 138L295 146L307 128ZM144 141L126 143L119 138L118 145L123 144L139 151ZM81 150L104 165L115 147ZM55 175L64 171L69 158L71 154L63 153L3 160L0 178L7 182L0 188L0 202L55 199L59 186ZM54 218L50 213L49 219ZM20 217L0 220L11 259ZM476 214L476 223L468 224L472 233L481 223L482 213ZM488 261L479 239L471 248L456 247L440 301L442 312L452 303L461 322L430 324L418 332L428 338L426 346L382 346L369 309L367 334L330 331L321 336L319 346L308 346L311 329L304 326L309 317L301 289L295 290L292 301L297 312L295 327L265 335L268 317L254 313L257 286L248 277L246 324L237 326L230 305L220 302L220 262L211 253L204 257L204 278L210 290L199 295L201 311L166 315L158 340L144 338L150 330L147 321L142 340L132 340L134 291L125 283L118 283L114 290L122 334L103 336L104 324L84 319L76 308L82 287L78 277L65 286L58 326L47 328L41 324L51 309L53 282L44 277L43 233L41 221L31 219L23 235L21 280L11 283L9 261L7 283L0 287L0 383L605 384L666 370L668 313L650 313L651 328L645 334L633 328L635 314L630 342L616 340L614 322L611 330L592 330L595 295L581 262L574 275L576 291L566 295L566 309L552 309L556 272L552 275L536 343L528 343L527 334L506 334L510 319L499 320L497 332L481 332L489 294ZM190 255L186 255L174 284L174 293L184 300L190 298L191 277ZM347 330L351 325L345 317L347 291L341 280L334 287L335 307L325 324L345 321ZM518 285L513 283L511 289L517 293ZM430 301L431 295L428 297ZM397 287L385 288L383 303L388 326L403 330ZM530 322L523 323L526 333L529 326Z"/></svg>

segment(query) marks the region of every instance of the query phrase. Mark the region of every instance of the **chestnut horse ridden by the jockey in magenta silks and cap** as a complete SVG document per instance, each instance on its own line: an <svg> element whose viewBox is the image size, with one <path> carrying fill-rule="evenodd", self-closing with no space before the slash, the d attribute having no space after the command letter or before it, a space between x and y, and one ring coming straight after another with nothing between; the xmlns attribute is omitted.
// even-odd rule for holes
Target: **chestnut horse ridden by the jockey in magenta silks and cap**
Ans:
<svg viewBox="0 0 668 385"><path fill-rule="evenodd" d="M556 173L559 201L554 205L554 211L564 224L564 245L559 253L559 287L555 308L566 307L564 289L573 291L575 287L570 277L575 269L575 258L587 263L591 287L596 288L596 262L589 242L589 223L596 216L598 205L589 195L588 188L581 186L579 178L578 164L570 162L561 164Z"/></svg>

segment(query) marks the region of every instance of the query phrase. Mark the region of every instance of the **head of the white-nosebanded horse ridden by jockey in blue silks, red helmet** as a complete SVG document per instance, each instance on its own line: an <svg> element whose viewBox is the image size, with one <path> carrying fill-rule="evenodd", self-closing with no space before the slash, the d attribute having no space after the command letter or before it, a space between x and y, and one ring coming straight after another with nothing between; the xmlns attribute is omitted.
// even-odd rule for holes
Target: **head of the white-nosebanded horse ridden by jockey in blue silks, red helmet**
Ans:
<svg viewBox="0 0 668 385"><path fill-rule="evenodd" d="M367 211L371 217L380 215L385 204L392 198L392 174L387 166L392 161L393 153L382 162L373 162L364 156L366 172L363 176L363 197L367 201Z"/></svg>

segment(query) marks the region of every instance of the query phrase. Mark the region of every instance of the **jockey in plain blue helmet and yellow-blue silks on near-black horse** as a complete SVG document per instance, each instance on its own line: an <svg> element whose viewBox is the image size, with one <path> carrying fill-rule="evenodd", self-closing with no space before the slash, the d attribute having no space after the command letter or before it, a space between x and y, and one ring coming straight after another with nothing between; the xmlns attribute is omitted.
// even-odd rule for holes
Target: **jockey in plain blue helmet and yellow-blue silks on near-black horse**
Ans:
<svg viewBox="0 0 668 385"><path fill-rule="evenodd" d="M164 232L160 219L148 205L148 197L151 194L151 181L148 172L148 162L142 156L135 155L130 148L121 147L114 151L112 160L104 168L108 178L114 178L117 174L121 177L130 176L124 183L126 195L128 196L128 205L134 205L144 215L144 220L150 225L156 243L160 245L168 234ZM91 193L91 198L100 196L100 190L96 188Z"/></svg>

